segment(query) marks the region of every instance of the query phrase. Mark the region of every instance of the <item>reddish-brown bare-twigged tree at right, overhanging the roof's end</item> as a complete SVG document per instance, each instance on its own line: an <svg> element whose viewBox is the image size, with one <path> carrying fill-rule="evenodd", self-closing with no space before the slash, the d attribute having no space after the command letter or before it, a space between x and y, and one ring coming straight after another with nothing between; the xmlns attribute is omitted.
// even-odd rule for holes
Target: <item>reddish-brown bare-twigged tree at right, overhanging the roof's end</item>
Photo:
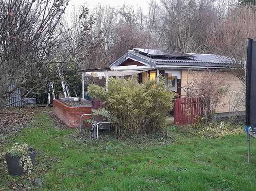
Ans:
<svg viewBox="0 0 256 191"><path fill-rule="evenodd" d="M207 31L206 44L212 53L227 64L234 76L245 85L247 38L256 38L256 13L253 6L231 8L219 23Z"/></svg>

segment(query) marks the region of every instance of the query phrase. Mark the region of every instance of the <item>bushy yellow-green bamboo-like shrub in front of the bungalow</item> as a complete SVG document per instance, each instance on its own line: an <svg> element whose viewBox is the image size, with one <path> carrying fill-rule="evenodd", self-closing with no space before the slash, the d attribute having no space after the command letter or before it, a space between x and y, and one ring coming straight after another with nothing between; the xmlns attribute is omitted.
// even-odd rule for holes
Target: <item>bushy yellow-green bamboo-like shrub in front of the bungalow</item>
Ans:
<svg viewBox="0 0 256 191"><path fill-rule="evenodd" d="M91 84L92 98L105 101L106 109L117 120L114 132L118 136L162 132L169 110L173 108L174 92L165 89L164 80L138 83L135 77L109 79L108 91Z"/></svg>

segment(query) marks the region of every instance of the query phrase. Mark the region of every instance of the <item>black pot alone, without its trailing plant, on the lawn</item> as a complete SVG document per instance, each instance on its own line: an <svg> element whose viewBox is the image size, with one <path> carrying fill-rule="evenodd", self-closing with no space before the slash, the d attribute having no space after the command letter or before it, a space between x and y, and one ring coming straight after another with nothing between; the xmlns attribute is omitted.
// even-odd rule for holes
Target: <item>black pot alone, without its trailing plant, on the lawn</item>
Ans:
<svg viewBox="0 0 256 191"><path fill-rule="evenodd" d="M29 151L31 153L28 154L27 156L30 156L33 167L34 167L36 152L34 149L29 149ZM23 174L23 167L19 166L19 160L21 158L20 156L14 157L14 156L11 156L10 154L6 154L5 158L6 158L7 167L10 175L20 176Z"/></svg>

